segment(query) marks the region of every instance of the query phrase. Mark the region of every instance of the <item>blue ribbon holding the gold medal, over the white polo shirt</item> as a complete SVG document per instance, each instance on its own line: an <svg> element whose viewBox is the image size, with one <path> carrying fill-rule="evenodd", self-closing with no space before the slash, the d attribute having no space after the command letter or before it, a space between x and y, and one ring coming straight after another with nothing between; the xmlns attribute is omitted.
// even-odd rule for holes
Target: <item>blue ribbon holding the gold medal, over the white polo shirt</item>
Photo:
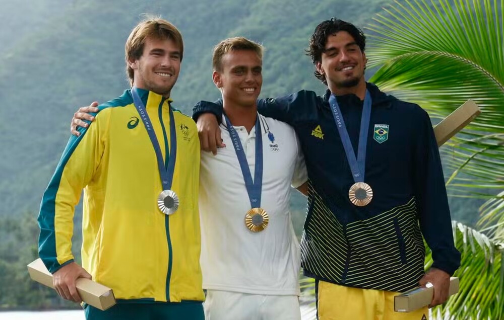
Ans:
<svg viewBox="0 0 504 320"><path fill-rule="evenodd" d="M263 136L259 115L256 119L256 167L254 181L252 181L252 175L250 173L250 168L248 168L247 157L241 145L240 137L229 121L229 118L226 115L224 115L224 118L226 119L227 128L231 135L231 140L233 141L241 172L243 173L245 187L247 188L248 198L250 199L250 206L252 208L259 208L261 207L261 191L263 188Z"/></svg>

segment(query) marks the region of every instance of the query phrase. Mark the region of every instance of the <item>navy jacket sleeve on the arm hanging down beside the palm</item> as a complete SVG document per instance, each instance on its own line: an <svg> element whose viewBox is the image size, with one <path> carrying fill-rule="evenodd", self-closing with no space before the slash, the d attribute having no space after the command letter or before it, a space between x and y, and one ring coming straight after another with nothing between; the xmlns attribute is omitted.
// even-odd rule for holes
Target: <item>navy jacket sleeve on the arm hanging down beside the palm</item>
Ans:
<svg viewBox="0 0 504 320"><path fill-rule="evenodd" d="M414 146L415 193L420 229L432 250L432 267L453 275L460 266L460 252L453 241L443 168L430 118L424 110L420 109L420 112L416 120L419 130Z"/></svg>

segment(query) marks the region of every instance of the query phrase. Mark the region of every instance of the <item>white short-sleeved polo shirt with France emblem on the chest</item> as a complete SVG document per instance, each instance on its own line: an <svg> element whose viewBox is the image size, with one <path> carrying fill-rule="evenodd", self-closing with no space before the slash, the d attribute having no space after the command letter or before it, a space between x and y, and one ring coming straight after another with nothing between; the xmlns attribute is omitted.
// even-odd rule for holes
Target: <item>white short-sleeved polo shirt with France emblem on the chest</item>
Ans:
<svg viewBox="0 0 504 320"><path fill-rule="evenodd" d="M304 157L294 129L258 115L263 138L261 208L268 227L251 232L245 214L251 208L238 157L226 121L226 144L217 155L202 152L200 170L201 267L203 288L250 294L299 294L299 244L289 210L292 187L307 180ZM254 179L256 130L235 127Z"/></svg>

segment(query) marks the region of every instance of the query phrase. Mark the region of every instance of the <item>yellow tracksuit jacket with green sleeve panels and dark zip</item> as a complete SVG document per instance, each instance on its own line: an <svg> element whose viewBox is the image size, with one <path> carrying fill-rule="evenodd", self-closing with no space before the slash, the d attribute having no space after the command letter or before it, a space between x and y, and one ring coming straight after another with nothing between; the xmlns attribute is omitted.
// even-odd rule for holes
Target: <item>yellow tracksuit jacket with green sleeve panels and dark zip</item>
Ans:
<svg viewBox="0 0 504 320"><path fill-rule="evenodd" d="M84 189L82 265L120 301L203 301L198 189L200 143L194 121L171 100L139 90L166 163L171 125L177 154L171 189L178 211L164 215L157 159L130 90L99 106L72 136L44 193L39 255L51 273L72 262L74 208ZM168 152L169 153L169 152Z"/></svg>

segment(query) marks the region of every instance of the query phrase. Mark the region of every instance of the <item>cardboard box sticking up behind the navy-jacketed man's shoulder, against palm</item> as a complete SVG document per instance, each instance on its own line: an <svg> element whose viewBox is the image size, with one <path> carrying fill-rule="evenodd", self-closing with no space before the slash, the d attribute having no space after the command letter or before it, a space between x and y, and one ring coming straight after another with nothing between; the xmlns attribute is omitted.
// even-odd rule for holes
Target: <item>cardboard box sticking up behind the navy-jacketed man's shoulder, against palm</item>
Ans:
<svg viewBox="0 0 504 320"><path fill-rule="evenodd" d="M462 106L458 107L457 110L434 127L437 146L442 146L480 113L481 110L479 110L474 101L467 100Z"/></svg>

